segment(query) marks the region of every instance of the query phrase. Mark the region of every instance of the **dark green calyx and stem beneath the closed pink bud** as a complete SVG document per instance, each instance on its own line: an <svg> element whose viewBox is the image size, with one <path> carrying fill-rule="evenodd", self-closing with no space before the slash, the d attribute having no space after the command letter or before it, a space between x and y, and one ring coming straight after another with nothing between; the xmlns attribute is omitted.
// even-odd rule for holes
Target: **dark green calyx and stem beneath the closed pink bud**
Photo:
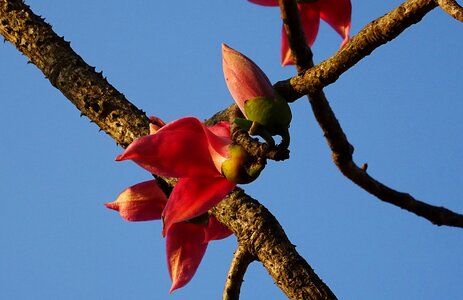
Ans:
<svg viewBox="0 0 463 300"><path fill-rule="evenodd" d="M274 135L282 138L281 146L289 146L289 125L291 123L291 109L282 97L256 97L244 103L247 119L235 119L235 123L251 135L261 136L270 145L275 145Z"/></svg>

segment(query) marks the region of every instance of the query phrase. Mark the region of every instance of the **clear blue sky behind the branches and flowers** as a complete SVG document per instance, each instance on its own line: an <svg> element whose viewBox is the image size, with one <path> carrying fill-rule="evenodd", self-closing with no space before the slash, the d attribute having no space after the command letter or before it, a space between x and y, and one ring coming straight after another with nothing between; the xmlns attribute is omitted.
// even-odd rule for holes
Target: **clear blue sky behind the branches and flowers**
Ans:
<svg viewBox="0 0 463 300"><path fill-rule="evenodd" d="M222 42L272 82L279 11L247 1L27 1L138 107L165 121L232 102ZM353 1L352 34L400 1ZM341 39L326 24L317 62ZM327 96L355 159L429 203L463 213L463 27L439 9L376 50ZM214 242L194 279L168 294L160 222L128 223L103 204L150 179L27 58L0 45L0 299L219 299L236 239ZM245 187L279 219L340 299L458 299L463 231L431 225L345 179L306 99L292 105L291 159ZM285 299L251 265L242 299Z"/></svg>

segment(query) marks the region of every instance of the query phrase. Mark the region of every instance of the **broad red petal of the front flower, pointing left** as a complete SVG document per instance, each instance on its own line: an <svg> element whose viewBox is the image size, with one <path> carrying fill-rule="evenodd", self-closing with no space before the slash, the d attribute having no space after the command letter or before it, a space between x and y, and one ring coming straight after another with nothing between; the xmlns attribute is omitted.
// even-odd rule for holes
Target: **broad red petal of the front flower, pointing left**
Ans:
<svg viewBox="0 0 463 300"><path fill-rule="evenodd" d="M206 127L196 118L171 122L135 140L116 160L133 160L151 173L169 177L217 176Z"/></svg>

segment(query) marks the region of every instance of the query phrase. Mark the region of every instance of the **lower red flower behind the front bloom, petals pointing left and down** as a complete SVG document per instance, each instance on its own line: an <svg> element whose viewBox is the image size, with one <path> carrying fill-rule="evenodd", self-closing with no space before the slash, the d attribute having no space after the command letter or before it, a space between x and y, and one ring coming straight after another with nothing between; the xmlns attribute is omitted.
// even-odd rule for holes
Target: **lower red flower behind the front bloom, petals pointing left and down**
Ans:
<svg viewBox="0 0 463 300"><path fill-rule="evenodd" d="M125 189L114 202L105 204L127 221L159 220L168 203L155 180ZM232 232L213 216L197 223L173 224L166 236L166 254L172 280L170 292L185 286L194 276L211 240L224 239Z"/></svg>

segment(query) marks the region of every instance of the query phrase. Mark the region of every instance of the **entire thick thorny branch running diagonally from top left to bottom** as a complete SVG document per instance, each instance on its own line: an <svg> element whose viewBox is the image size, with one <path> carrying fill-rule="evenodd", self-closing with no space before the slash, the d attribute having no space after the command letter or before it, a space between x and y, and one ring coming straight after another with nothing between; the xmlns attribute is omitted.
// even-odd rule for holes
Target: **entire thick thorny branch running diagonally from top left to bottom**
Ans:
<svg viewBox="0 0 463 300"><path fill-rule="evenodd" d="M72 103L123 147L148 134L149 120L87 65L21 0L0 0L0 34L26 55ZM168 181L166 181L168 183ZM212 210L257 257L290 299L335 299L297 253L275 217L235 189Z"/></svg>

